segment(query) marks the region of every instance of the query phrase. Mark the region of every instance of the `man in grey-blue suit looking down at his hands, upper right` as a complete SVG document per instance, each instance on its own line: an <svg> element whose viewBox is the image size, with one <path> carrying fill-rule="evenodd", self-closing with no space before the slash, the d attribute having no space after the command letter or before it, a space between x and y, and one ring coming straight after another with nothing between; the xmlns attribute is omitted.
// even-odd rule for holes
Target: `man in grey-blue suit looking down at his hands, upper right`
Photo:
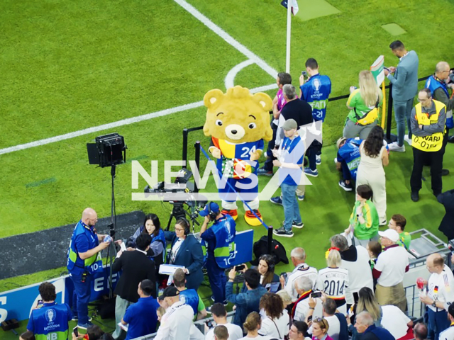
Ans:
<svg viewBox="0 0 454 340"><path fill-rule="evenodd" d="M413 108L414 96L418 93L418 65L416 52L407 52L400 40L391 42L392 53L399 58L396 67L384 70L384 75L392 83L392 98L394 100L394 116L397 123L397 142L389 145L389 150L405 152L404 140L411 145L410 113ZM392 75L394 73L394 76ZM409 135L405 135L405 120L409 127Z"/></svg>

